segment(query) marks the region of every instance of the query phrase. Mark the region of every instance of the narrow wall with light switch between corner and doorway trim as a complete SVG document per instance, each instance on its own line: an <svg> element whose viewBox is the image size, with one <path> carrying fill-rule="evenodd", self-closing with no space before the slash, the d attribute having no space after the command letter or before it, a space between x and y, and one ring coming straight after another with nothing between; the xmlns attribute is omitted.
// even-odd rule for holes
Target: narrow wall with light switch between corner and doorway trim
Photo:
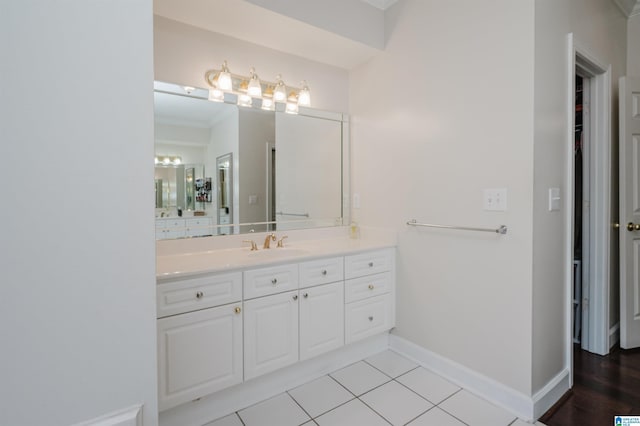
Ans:
<svg viewBox="0 0 640 426"><path fill-rule="evenodd" d="M535 1L535 128L533 192L533 358L532 392L546 385L566 365L567 266L564 238L569 188L567 116L569 2ZM549 212L548 190L560 188L560 211Z"/></svg>

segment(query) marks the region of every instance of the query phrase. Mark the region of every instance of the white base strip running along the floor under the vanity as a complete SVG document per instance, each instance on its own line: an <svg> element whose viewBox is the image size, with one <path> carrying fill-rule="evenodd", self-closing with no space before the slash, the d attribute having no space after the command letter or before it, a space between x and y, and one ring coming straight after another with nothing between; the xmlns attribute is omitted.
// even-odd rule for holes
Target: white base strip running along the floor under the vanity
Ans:
<svg viewBox="0 0 640 426"><path fill-rule="evenodd" d="M160 426L201 426L389 348L383 333L163 411Z"/></svg>

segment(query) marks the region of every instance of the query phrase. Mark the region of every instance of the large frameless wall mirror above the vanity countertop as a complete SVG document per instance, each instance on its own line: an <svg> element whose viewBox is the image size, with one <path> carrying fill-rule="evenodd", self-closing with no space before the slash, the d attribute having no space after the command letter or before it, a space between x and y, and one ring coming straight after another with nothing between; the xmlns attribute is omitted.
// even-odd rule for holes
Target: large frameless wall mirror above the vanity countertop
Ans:
<svg viewBox="0 0 640 426"><path fill-rule="evenodd" d="M348 119L211 102L155 83L158 239L348 222Z"/></svg>

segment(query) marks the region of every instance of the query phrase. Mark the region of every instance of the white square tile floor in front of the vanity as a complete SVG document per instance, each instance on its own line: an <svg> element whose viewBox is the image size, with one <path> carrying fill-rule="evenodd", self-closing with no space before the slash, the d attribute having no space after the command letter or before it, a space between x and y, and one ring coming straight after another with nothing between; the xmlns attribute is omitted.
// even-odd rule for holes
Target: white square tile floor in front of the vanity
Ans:
<svg viewBox="0 0 640 426"><path fill-rule="evenodd" d="M526 426L528 423L387 350L205 426L300 425Z"/></svg>

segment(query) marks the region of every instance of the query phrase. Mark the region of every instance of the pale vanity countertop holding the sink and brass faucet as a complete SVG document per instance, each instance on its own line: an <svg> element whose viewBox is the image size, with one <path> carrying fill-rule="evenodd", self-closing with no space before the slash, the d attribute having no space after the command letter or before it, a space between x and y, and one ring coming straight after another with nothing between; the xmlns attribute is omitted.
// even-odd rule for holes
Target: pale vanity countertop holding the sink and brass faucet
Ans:
<svg viewBox="0 0 640 426"><path fill-rule="evenodd" d="M378 230L375 232L363 232L363 234L365 236L359 239L350 239L345 233L345 235L331 235L324 238L301 241L296 241L295 237L290 235L285 240L284 248L278 248L276 243L272 242L269 249L262 248L266 233L254 234L251 237L258 245L257 251L251 251L248 244L242 248L216 247L211 250L202 250L204 246L202 239L194 240L194 250L191 251L189 246L183 242L180 252L171 252L171 250L166 249L159 250L156 258L156 279L160 283L212 272L268 266L292 261L300 262L328 256L342 256L396 245L394 233ZM305 235L305 237L309 237L309 235ZM216 246L219 245L219 243L216 244Z"/></svg>

